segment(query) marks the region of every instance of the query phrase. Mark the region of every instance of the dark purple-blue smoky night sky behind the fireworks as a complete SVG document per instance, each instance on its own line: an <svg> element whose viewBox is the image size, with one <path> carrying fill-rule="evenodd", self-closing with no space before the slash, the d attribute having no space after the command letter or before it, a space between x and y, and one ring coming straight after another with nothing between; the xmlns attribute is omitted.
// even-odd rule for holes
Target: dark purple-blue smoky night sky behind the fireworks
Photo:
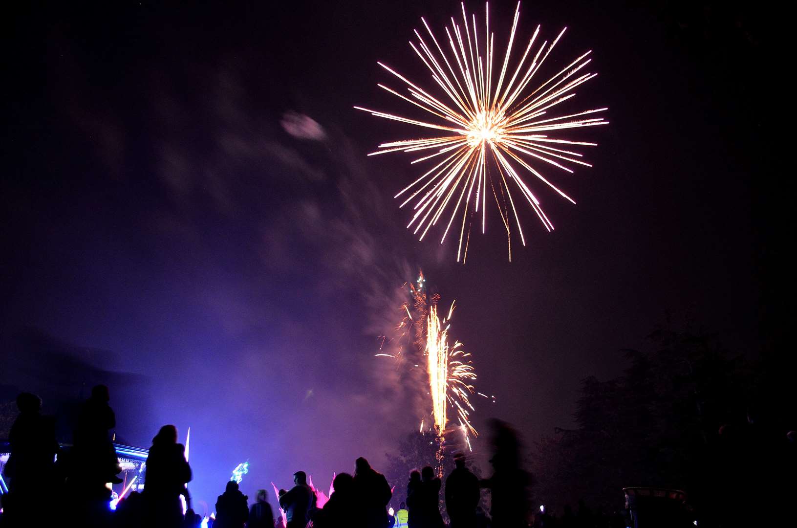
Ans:
<svg viewBox="0 0 797 528"><path fill-rule="evenodd" d="M378 60L430 85L406 41L457 2L58 2L7 18L3 362L35 329L145 376L148 422L118 429L147 443L190 426L194 493L210 502L244 459L249 496L297 469L326 486L417 427L418 389L373 354L419 268L457 300L452 333L497 398L475 424L499 416L528 443L570 427L579 380L621 372L619 349L667 311L755 351L779 236L748 102L756 14L538 3L521 6L521 34L568 27L551 73L594 50L599 77L571 108L606 105L611 125L584 136L594 168L549 173L577 206L537 189L556 231L523 211L528 245L515 239L509 263L489 210L465 266L453 239L403 229L391 197L418 175L409 158L366 156L418 132L351 108L403 108L376 87ZM503 36L514 3L490 8ZM316 139L289 133L291 112Z"/></svg>

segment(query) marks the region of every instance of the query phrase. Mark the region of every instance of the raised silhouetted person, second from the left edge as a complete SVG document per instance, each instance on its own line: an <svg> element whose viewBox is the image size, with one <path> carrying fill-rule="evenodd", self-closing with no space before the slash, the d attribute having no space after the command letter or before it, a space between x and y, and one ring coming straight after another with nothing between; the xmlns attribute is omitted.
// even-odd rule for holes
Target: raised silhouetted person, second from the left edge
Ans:
<svg viewBox="0 0 797 528"><path fill-rule="evenodd" d="M105 483L122 482L116 476L121 471L119 460L116 459L116 449L108 437L108 431L116 427L116 415L108 405L110 400L108 387L96 385L92 388L92 396L84 402L77 417L73 437L73 471L77 480L92 488L97 483L104 487Z"/></svg>

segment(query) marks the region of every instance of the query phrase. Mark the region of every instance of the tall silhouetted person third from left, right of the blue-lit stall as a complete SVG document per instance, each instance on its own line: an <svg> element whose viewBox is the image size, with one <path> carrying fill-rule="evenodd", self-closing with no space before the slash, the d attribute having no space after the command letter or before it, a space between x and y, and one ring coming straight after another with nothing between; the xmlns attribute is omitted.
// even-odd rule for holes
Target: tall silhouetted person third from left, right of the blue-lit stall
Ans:
<svg viewBox="0 0 797 528"><path fill-rule="evenodd" d="M164 425L152 439L147 456L147 476L143 495L147 498L152 526L179 526L183 520L180 495L186 495L191 468L186 462L186 447L177 443L177 428Z"/></svg>

